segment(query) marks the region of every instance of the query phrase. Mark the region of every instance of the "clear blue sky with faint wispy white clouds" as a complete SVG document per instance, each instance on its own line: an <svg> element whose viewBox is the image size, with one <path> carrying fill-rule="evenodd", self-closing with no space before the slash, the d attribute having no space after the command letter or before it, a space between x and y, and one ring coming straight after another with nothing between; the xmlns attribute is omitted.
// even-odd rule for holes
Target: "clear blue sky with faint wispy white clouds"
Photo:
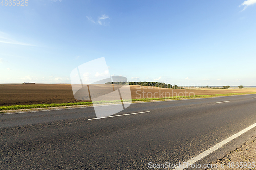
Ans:
<svg viewBox="0 0 256 170"><path fill-rule="evenodd" d="M256 0L0 5L0 83L70 83L105 57L129 81L256 86L255 16Z"/></svg>

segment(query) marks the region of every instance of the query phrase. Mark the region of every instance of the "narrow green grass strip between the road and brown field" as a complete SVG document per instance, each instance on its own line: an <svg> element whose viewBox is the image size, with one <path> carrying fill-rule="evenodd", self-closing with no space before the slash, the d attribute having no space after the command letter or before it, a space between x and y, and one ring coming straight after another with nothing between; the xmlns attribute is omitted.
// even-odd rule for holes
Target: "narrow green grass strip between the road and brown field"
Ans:
<svg viewBox="0 0 256 170"><path fill-rule="evenodd" d="M156 101L156 100L180 100L180 99L195 99L195 98L213 98L218 96L232 96L232 95L244 95L244 94L256 94L256 93L228 93L228 94L214 94L214 95L196 95L194 97L170 97L170 98L141 98L132 99L132 102L136 101ZM128 102L129 100L123 100L123 102ZM98 101L97 104L108 104L108 103L118 103L119 101ZM0 106L1 110L18 110L18 109L34 109L34 108L49 108L49 107L59 107L59 106L79 106L79 105L92 105L92 102L76 102L76 103L52 103L52 104L35 104L35 105L12 105L12 106Z"/></svg>

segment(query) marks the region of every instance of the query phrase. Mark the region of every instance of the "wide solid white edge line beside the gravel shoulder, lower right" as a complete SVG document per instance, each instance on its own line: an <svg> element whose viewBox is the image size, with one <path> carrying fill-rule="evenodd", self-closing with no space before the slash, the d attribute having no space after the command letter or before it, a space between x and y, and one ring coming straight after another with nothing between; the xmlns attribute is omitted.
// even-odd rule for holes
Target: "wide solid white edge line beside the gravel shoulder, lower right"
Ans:
<svg viewBox="0 0 256 170"><path fill-rule="evenodd" d="M230 142L231 140L237 138L238 136L242 135L243 133L247 132L248 130L250 130L254 127L256 127L256 123L247 127L247 128L245 128L244 130L232 135L231 137L223 140L222 142L216 144L214 147L211 147L210 149L208 149L208 150L204 151L203 153L199 154L198 156L196 156L196 157L194 157L194 158L192 158L192 159L190 159L186 162L183 162L182 164L180 164L180 167L175 168L175 169L185 169L185 168L187 168L189 165L196 163L197 161L199 161L203 157L205 157L205 156L209 155L210 153L216 151L217 149L221 148L224 144ZM184 164L184 166L183 166L183 164Z"/></svg>

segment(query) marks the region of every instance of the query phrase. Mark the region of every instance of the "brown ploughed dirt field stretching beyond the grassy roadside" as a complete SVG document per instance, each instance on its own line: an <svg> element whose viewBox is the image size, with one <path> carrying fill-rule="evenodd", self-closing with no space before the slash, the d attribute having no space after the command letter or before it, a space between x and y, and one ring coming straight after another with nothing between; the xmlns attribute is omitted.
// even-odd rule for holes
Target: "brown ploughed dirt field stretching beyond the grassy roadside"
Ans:
<svg viewBox="0 0 256 170"><path fill-rule="evenodd" d="M210 95L256 92L256 88L181 90L134 85L130 85L130 88L132 99L189 96L189 93L190 95ZM74 98L70 84L0 84L0 106L71 102L79 102L79 100Z"/></svg>

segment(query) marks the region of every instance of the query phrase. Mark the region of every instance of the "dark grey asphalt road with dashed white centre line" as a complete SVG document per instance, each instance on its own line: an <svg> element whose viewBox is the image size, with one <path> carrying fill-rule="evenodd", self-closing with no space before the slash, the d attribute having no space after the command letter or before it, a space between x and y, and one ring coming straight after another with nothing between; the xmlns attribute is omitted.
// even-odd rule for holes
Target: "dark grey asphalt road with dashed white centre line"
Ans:
<svg viewBox="0 0 256 170"><path fill-rule="evenodd" d="M0 114L0 169L149 169L149 162L182 163L256 123L255 97L136 103L116 115L144 113L102 119L92 119L93 107Z"/></svg>

